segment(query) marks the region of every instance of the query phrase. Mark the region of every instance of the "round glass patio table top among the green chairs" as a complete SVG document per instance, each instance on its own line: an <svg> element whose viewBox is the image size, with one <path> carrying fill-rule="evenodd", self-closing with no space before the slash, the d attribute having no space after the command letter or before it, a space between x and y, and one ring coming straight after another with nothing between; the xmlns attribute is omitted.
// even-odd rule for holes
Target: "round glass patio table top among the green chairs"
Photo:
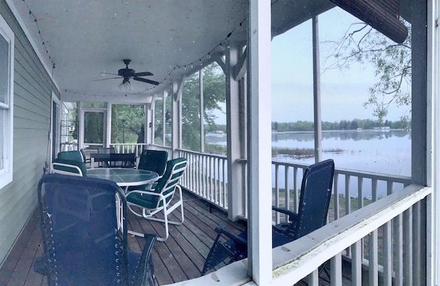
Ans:
<svg viewBox="0 0 440 286"><path fill-rule="evenodd" d="M153 184L157 181L159 175L153 171L142 169L94 168L87 169L87 177L111 180L119 187L125 187L126 192L129 187Z"/></svg>

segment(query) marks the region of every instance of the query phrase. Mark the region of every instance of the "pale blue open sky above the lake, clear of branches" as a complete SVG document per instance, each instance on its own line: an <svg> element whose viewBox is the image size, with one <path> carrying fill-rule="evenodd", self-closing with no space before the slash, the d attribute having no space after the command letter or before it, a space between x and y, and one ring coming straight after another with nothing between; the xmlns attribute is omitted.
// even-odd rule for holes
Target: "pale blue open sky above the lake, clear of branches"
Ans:
<svg viewBox="0 0 440 286"><path fill-rule="evenodd" d="M373 108L363 106L375 83L371 64L352 62L347 69L326 69L331 64L326 58L333 53L326 43L342 38L351 23L359 22L340 8L318 17L322 121L375 120ZM272 121L314 120L311 30L311 21L307 21L272 40ZM410 115L409 106L392 106L384 120L398 121L403 115ZM225 124L225 115L217 112L217 117L217 123Z"/></svg>

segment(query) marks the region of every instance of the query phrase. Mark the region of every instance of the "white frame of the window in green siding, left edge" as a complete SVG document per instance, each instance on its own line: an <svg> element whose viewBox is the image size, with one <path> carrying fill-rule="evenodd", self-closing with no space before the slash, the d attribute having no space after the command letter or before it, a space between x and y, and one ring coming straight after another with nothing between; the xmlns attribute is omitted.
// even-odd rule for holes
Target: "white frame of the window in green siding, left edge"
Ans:
<svg viewBox="0 0 440 286"><path fill-rule="evenodd" d="M3 167L0 169L0 189L12 182L13 173L13 137L14 137L14 32L0 15L0 36L8 42L8 91L7 102L0 103L0 152ZM0 157L1 158L1 157Z"/></svg>

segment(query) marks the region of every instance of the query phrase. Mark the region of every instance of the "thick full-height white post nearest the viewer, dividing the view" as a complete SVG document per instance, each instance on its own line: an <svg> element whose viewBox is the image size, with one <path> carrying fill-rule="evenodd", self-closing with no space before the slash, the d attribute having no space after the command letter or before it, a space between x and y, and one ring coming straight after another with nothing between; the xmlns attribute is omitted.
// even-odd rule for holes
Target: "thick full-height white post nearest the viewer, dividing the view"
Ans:
<svg viewBox="0 0 440 286"><path fill-rule="evenodd" d="M249 1L248 274L257 285L272 281L272 124L270 1Z"/></svg>

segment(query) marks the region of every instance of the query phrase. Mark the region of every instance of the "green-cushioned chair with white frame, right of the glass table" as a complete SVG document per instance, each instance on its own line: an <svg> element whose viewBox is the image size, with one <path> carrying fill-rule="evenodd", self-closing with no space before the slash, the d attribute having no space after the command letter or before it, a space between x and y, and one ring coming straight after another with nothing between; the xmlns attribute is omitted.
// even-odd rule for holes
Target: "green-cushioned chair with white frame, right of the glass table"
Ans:
<svg viewBox="0 0 440 286"><path fill-rule="evenodd" d="M134 190L126 193L126 202L129 210L138 217L144 217L156 222L164 222L165 236L157 237L159 241L168 238L168 224L183 224L184 222L184 200L181 194L179 180L186 169L186 158L175 158L166 163L164 176L157 181L155 188L150 190ZM173 200L176 190L179 191L179 198ZM177 202L176 202L177 200ZM168 215L180 206L180 221L170 221ZM164 219L153 217L163 211ZM130 232L133 235L142 233Z"/></svg>

